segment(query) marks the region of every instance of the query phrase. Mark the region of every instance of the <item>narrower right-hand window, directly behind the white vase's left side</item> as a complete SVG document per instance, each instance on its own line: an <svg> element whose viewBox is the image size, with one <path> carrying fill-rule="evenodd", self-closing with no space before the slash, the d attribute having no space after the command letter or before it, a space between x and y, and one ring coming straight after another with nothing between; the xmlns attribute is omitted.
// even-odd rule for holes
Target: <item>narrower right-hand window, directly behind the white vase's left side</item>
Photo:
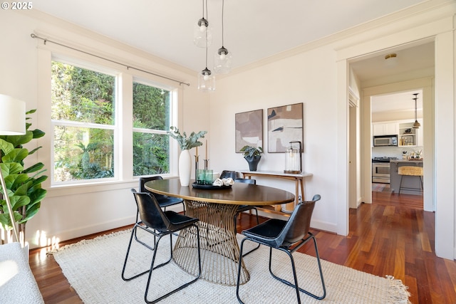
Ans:
<svg viewBox="0 0 456 304"><path fill-rule="evenodd" d="M170 172L170 91L133 83L133 176Z"/></svg>

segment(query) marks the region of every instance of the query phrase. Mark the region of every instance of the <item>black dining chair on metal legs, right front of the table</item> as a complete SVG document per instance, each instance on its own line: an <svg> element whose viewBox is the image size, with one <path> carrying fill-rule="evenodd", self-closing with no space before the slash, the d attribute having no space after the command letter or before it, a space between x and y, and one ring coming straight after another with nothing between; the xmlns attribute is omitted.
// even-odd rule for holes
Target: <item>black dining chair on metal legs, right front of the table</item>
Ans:
<svg viewBox="0 0 456 304"><path fill-rule="evenodd" d="M288 221L281 219L269 219L264 223L252 227L251 229L242 231L242 234L244 234L245 238L241 241L241 252L239 254L239 269L237 273L236 286L236 296L237 300L239 300L239 303L244 303L239 297L239 278L242 265L242 251L244 250L244 242L247 240L260 243L264 246L269 246L269 273L271 273L271 276L276 280L279 280L281 283L295 288L298 303L301 303L301 297L299 295L300 291L318 300L322 300L326 297L326 287L323 280L323 271L321 270L320 255L318 254L318 247L316 246L315 236L310 232L311 217L312 213L314 212L314 206L316 201L320 199L321 196L316 194L311 201L301 201L295 207ZM298 278L296 276L296 267L294 265L294 258L292 255L294 251L301 248L301 246L303 246L305 243L307 243L307 241L311 239L314 241L316 261L318 263L321 285L323 287L323 295L320 296L315 295L314 293L310 293L309 291L299 287ZM273 273L271 266L273 248L284 251L289 256L291 260L291 269L293 271L294 283L286 281L283 278L279 278Z"/></svg>

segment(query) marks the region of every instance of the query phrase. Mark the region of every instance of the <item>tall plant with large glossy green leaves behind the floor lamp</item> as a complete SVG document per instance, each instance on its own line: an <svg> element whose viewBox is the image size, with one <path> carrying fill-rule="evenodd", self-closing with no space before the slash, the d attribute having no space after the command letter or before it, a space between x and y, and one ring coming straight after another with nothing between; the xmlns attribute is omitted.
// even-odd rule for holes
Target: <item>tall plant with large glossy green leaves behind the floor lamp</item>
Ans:
<svg viewBox="0 0 456 304"><path fill-rule="evenodd" d="M36 110L26 112L32 114ZM30 119L26 117L26 120ZM45 133L41 130L28 130L31 123L26 122L25 135L3 135L0 136L0 169L4 175L5 184L14 220L18 224L19 234L25 239L26 223L38 213L41 200L46 196L46 190L41 188L41 183L48 177L42 175L45 169L44 164L38 162L30 167L24 168L24 159L33 154L41 147L31 151L24 148L24 145L31 140L43 137ZM0 192L0 224L6 230L12 229L9 212L4 199L3 189Z"/></svg>

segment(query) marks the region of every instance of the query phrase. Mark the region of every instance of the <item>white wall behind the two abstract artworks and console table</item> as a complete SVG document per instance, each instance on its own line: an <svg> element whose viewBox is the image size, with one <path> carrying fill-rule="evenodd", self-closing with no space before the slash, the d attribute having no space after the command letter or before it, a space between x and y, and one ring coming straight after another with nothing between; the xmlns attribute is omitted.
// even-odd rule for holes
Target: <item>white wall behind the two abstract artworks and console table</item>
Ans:
<svg viewBox="0 0 456 304"><path fill-rule="evenodd" d="M212 157L214 169L248 169L242 154L234 153L234 115L263 109L265 153L258 169L283 171L284 154L267 152L267 109L304 103L303 168L314 174L305 179L306 198L321 194L314 221L318 221L315 226L328 231L336 231L333 209L338 201L336 192L330 190L337 182L335 61L330 47L319 48L218 80L210 112L212 137L218 140L211 149L211 154L217 155ZM294 182L270 178L257 181L294 193Z"/></svg>

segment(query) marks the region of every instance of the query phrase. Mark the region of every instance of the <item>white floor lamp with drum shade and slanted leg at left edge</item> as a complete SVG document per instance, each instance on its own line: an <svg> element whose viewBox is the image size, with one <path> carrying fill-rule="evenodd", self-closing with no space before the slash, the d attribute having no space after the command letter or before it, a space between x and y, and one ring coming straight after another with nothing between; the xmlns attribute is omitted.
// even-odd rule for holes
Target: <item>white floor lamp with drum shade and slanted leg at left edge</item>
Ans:
<svg viewBox="0 0 456 304"><path fill-rule="evenodd" d="M23 135L26 132L26 103L8 95L0 94L0 135ZM14 221L13 209L9 200L3 173L0 169L1 187L13 225L14 236L19 241L19 234Z"/></svg>

